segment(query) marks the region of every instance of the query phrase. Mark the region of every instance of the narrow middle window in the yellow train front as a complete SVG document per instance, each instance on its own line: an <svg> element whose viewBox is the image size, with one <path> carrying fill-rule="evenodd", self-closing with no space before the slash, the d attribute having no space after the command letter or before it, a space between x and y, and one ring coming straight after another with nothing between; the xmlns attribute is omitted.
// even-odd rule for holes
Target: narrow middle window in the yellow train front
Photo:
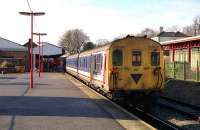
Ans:
<svg viewBox="0 0 200 130"><path fill-rule="evenodd" d="M132 52L132 65L140 66L141 65L141 51Z"/></svg>

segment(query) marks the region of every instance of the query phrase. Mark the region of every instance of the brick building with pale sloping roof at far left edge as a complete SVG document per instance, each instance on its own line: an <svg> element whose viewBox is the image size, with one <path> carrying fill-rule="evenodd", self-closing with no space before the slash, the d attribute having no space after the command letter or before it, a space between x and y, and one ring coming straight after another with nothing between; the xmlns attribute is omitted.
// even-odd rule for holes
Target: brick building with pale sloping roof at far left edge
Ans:
<svg viewBox="0 0 200 130"><path fill-rule="evenodd" d="M0 37L0 72L28 70L28 49L16 42Z"/></svg>

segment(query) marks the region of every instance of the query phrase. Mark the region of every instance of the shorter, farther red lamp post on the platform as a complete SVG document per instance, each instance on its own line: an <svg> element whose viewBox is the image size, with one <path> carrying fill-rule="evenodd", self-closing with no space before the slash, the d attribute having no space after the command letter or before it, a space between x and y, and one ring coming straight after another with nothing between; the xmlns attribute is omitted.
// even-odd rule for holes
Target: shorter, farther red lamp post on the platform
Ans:
<svg viewBox="0 0 200 130"><path fill-rule="evenodd" d="M40 36L45 36L47 35L46 33L33 33L34 35L39 36L39 58L38 58L38 65L39 65L39 78L40 78L40 72L42 72L43 69L41 69L41 65L43 65L43 45L40 42ZM42 62L41 62L41 51L40 51L40 46L42 47ZM41 64L42 63L42 64ZM43 68L43 67L42 67Z"/></svg>

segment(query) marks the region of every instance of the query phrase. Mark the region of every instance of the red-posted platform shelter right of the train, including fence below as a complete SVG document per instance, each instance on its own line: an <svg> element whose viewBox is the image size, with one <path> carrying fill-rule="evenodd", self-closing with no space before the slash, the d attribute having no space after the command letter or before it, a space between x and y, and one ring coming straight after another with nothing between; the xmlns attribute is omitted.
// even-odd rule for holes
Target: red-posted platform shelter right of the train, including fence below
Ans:
<svg viewBox="0 0 200 130"><path fill-rule="evenodd" d="M171 71L171 77L200 81L200 36L165 41L161 44L165 52L166 73Z"/></svg>

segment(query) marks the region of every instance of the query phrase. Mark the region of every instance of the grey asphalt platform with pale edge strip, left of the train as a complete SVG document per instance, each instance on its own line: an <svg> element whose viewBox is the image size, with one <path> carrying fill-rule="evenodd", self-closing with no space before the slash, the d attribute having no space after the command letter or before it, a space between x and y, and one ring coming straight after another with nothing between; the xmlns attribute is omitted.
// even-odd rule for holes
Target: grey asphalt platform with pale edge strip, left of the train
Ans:
<svg viewBox="0 0 200 130"><path fill-rule="evenodd" d="M0 130L152 130L69 75L0 76Z"/></svg>

